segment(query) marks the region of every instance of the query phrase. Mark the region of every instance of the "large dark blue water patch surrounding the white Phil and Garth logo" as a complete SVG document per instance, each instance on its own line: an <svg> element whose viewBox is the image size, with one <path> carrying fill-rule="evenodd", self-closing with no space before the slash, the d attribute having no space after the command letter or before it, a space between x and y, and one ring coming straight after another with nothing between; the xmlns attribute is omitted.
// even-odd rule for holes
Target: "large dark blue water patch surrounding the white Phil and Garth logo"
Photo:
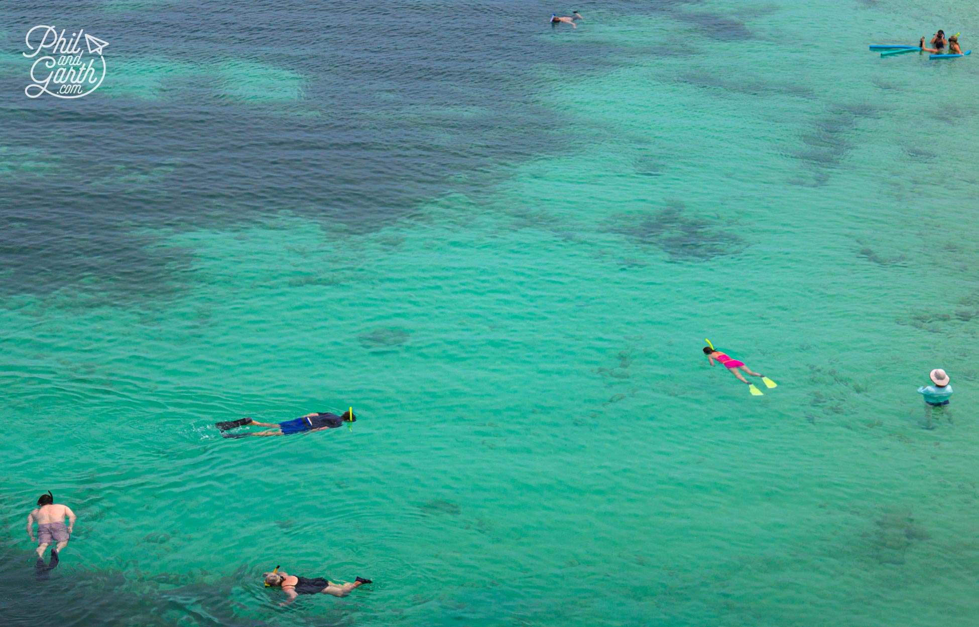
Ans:
<svg viewBox="0 0 979 627"><path fill-rule="evenodd" d="M288 209L364 233L448 190L476 193L508 165L576 147L578 120L539 104L538 68L599 73L623 58L584 29L551 28L543 2L189 7L0 9L17 60L0 64L0 291L159 294L185 253L154 249L141 228ZM23 35L41 21L110 42L101 91L24 96Z"/></svg>

